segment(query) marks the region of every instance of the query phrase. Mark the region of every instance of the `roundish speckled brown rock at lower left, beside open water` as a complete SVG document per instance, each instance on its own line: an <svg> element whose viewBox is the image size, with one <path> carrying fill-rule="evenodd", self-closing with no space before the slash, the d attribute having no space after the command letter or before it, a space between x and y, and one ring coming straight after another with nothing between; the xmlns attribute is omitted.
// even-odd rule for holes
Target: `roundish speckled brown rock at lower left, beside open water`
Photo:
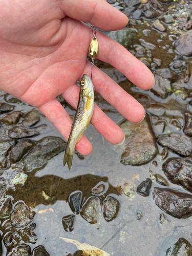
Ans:
<svg viewBox="0 0 192 256"><path fill-rule="evenodd" d="M11 224L15 228L26 227L34 218L34 212L30 212L28 206L22 202L15 205L11 214Z"/></svg>

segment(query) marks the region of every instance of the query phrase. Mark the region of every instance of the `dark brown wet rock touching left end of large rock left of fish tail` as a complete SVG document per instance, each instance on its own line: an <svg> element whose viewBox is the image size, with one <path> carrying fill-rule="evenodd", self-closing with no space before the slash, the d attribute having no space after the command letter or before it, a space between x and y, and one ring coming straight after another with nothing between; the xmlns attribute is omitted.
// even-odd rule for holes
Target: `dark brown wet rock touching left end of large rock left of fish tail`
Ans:
<svg viewBox="0 0 192 256"><path fill-rule="evenodd" d="M10 152L10 160L12 163L18 162L22 157L30 150L36 143L31 140L19 141L15 146L12 147Z"/></svg>

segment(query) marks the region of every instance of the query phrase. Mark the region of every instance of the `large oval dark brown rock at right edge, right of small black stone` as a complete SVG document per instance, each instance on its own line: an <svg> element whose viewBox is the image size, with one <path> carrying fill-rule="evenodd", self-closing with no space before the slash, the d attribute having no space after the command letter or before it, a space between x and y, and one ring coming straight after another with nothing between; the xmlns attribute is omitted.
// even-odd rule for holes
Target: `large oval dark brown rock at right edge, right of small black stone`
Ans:
<svg viewBox="0 0 192 256"><path fill-rule="evenodd" d="M175 218L188 218L192 215L192 195L173 189L155 187L153 199L160 209Z"/></svg>

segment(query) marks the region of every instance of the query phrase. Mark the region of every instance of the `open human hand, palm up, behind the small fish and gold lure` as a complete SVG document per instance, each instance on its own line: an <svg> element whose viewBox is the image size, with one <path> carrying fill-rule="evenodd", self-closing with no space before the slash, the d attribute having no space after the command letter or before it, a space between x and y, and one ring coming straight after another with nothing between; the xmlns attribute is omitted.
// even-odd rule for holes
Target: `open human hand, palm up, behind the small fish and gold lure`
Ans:
<svg viewBox="0 0 192 256"><path fill-rule="evenodd" d="M0 89L38 108L68 139L72 121L56 97L74 108L79 97L76 81L90 74L87 54L93 37L89 22L103 30L119 30L127 17L104 0L23 0L0 3ZM109 37L97 32L97 58L110 63L136 86L151 89L154 77L145 65ZM140 103L108 75L93 68L95 91L132 122L144 117ZM95 104L91 123L110 143L124 138L120 127ZM86 137L76 150L88 155L92 145Z"/></svg>

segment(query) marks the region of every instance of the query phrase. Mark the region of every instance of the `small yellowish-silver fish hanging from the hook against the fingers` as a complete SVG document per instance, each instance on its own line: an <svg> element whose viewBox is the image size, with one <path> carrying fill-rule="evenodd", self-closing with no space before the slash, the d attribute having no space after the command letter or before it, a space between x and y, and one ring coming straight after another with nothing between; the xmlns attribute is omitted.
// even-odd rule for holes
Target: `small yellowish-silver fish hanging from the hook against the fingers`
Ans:
<svg viewBox="0 0 192 256"><path fill-rule="evenodd" d="M84 74L80 82L79 102L74 117L71 133L68 139L63 167L68 164L71 169L73 153L76 143L81 139L92 118L94 108L94 87L91 78Z"/></svg>

